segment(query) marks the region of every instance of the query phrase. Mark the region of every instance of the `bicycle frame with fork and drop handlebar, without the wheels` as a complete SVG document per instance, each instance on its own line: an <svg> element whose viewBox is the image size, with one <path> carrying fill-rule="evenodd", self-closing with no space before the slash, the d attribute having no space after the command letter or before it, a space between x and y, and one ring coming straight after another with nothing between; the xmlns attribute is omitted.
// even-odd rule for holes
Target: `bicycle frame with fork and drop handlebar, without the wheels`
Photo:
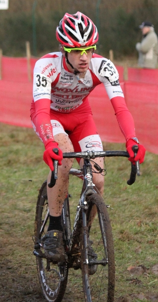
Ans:
<svg viewBox="0 0 158 302"><path fill-rule="evenodd" d="M137 152L138 146L135 145L133 146L133 151ZM56 149L54 149L55 152ZM83 170L79 169L70 169L71 175L75 176L82 176L84 178L82 190L81 190L81 195L80 195L80 200L79 204L77 206L77 213L74 221L74 226L73 226L73 231L71 233L71 223L70 223L70 209L69 209L69 201L68 198L65 199L64 205L63 205L63 223L64 223L64 229L65 229L65 241L67 245L67 249L71 251L72 246L74 245L75 242L75 235L76 235L76 230L78 229L78 223L79 220L82 218L83 219L83 226L86 228L86 210L88 209L88 205L86 202L86 196L93 194L93 193L99 193L97 188L92 182L93 175L92 175L92 165L90 163L90 159L94 159L95 157L111 157L111 156L121 156L121 157L129 157L127 152L119 152L119 151L103 151L103 152L80 152L80 153L66 153L63 154L63 158L83 158L84 164L83 164ZM55 185L56 179L58 178L57 176L57 170L58 170L58 162L54 161L54 172L52 173L51 177L51 185L48 184L49 187L53 187ZM135 181L136 174L139 176L139 163L136 162L136 165L133 166L131 165L131 174L130 174L130 179L127 181L128 185L131 185ZM84 211L81 211L83 209ZM81 215L82 212L82 215ZM46 217L44 219L44 222L41 226L40 233L42 234L45 224L47 222L47 219L49 217L49 210L47 211ZM85 236L86 240L86 236ZM87 257L86 257L87 259Z"/></svg>

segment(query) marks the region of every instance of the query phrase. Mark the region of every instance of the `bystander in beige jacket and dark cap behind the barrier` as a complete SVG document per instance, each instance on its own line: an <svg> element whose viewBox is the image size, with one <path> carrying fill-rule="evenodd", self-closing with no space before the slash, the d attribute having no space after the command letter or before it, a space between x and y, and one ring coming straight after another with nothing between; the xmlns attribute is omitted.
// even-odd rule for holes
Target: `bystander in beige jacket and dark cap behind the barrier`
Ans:
<svg viewBox="0 0 158 302"><path fill-rule="evenodd" d="M143 68L156 68L158 55L158 39L154 26L148 22L142 22L139 26L142 31L142 40L136 43L138 51L138 65Z"/></svg>

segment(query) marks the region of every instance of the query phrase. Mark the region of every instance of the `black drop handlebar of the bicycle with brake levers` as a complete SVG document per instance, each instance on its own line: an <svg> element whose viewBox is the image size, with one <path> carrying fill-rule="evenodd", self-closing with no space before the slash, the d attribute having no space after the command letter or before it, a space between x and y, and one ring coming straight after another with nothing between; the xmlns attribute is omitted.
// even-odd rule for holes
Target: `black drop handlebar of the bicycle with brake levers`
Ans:
<svg viewBox="0 0 158 302"><path fill-rule="evenodd" d="M137 154L138 146L132 146L134 157ZM58 148L54 148L53 152L58 154ZM84 159L95 159L98 157L127 157L129 158L129 154L127 151L85 151L85 152L68 152L63 153L63 158L72 159L72 158L84 158ZM128 185L132 185L135 182L136 175L140 176L139 171L139 161L135 162L135 165L131 163L131 172L130 178L127 180ZM54 187L56 180L58 179L58 161L54 161L54 171L52 171L51 180L48 184L49 188Z"/></svg>

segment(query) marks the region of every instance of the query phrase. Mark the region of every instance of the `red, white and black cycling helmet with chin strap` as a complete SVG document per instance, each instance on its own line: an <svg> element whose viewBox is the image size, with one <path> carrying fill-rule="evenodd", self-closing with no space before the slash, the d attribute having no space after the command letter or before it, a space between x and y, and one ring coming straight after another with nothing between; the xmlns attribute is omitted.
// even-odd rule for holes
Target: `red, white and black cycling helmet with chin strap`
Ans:
<svg viewBox="0 0 158 302"><path fill-rule="evenodd" d="M94 49L96 49L98 31L94 23L84 14L80 12L74 15L66 13L59 26L57 26L56 38L66 48L75 49L75 47L94 46ZM80 71L75 69L68 60L67 52L70 51L65 51L66 61L74 69L74 74L77 74Z"/></svg>

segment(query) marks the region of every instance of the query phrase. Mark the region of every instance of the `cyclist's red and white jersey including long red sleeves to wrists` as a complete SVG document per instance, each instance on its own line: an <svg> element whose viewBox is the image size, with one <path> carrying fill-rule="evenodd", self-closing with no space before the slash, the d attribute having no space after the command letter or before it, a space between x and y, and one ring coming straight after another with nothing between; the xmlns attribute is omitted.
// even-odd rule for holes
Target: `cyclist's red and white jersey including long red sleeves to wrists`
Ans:
<svg viewBox="0 0 158 302"><path fill-rule="evenodd" d="M36 62L31 119L45 147L54 139L50 114L91 111L88 95L101 83L125 139L135 137L134 121L125 104L117 69L110 60L93 54L88 70L77 75L69 71L61 52L49 53Z"/></svg>

